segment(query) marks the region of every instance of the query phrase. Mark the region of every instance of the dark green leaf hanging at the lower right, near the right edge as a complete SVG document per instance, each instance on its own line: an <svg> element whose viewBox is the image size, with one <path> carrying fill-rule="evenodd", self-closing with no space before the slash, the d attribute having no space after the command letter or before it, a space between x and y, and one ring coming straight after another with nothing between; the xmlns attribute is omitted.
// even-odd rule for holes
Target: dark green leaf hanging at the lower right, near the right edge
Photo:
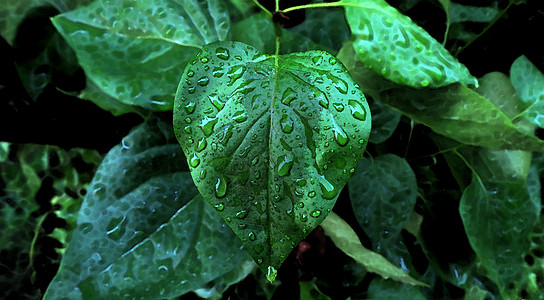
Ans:
<svg viewBox="0 0 544 300"><path fill-rule="evenodd" d="M519 181L482 183L475 178L461 197L459 211L470 244L505 299L520 298L529 277L523 266L540 211L535 204Z"/></svg>

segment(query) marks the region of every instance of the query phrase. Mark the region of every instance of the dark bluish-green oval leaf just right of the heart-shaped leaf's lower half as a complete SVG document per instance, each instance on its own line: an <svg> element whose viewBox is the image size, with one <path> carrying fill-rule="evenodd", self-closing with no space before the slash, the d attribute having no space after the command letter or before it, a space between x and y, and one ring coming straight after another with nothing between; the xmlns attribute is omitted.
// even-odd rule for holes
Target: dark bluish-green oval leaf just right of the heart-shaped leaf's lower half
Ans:
<svg viewBox="0 0 544 300"><path fill-rule="evenodd" d="M417 197L416 176L393 154L363 158L349 181L351 206L375 250L392 248Z"/></svg>

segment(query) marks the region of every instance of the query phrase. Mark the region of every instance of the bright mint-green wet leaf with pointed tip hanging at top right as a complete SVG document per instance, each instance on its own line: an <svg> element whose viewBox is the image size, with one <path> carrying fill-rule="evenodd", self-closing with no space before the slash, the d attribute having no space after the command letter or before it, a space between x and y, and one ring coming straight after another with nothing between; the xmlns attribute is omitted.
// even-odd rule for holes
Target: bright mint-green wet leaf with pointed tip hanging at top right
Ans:
<svg viewBox="0 0 544 300"><path fill-rule="evenodd" d="M412 87L477 85L467 68L425 30L384 0L342 0L359 59L385 78Z"/></svg>

